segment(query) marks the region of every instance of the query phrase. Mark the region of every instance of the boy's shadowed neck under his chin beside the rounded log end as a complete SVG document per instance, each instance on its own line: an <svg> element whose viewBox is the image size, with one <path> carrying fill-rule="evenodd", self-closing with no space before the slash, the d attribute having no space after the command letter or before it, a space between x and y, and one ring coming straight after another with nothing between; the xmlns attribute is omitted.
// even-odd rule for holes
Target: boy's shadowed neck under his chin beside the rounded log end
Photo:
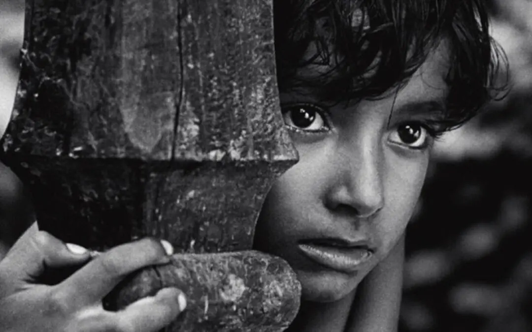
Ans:
<svg viewBox="0 0 532 332"><path fill-rule="evenodd" d="M354 296L355 291L336 302L302 301L300 311L285 332L344 332Z"/></svg>

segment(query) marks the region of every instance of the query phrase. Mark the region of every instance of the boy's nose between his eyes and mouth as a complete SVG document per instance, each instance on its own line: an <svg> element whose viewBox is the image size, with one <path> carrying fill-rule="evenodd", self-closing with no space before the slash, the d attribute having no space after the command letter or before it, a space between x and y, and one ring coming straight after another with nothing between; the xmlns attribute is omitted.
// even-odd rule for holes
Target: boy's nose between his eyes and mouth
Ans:
<svg viewBox="0 0 532 332"><path fill-rule="evenodd" d="M335 162L334 181L327 194L331 210L350 210L367 218L384 207L383 170L378 149L340 150Z"/></svg>

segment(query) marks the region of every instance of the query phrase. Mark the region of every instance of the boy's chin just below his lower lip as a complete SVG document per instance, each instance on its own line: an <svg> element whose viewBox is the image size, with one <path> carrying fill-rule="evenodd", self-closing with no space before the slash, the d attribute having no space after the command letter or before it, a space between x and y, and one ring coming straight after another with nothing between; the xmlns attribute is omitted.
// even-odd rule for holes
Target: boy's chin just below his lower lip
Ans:
<svg viewBox="0 0 532 332"><path fill-rule="evenodd" d="M310 302L335 302L351 294L360 280L335 271L296 271L303 288L302 300Z"/></svg>

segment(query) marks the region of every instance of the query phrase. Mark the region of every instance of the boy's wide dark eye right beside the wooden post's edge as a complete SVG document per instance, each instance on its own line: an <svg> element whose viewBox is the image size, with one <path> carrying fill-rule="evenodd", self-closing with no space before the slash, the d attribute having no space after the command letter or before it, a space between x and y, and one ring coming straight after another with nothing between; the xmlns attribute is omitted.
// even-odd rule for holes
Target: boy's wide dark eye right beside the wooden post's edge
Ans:
<svg viewBox="0 0 532 332"><path fill-rule="evenodd" d="M282 118L289 129L305 132L327 132L325 111L313 105L299 104L281 107Z"/></svg>

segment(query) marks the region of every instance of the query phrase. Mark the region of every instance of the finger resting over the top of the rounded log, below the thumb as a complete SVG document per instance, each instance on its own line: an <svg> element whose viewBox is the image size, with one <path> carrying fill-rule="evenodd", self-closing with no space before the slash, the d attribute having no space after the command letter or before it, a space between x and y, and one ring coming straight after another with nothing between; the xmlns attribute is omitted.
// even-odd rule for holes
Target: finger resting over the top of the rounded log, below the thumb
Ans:
<svg viewBox="0 0 532 332"><path fill-rule="evenodd" d="M58 292L71 294L72 303L81 308L101 302L114 286L133 271L169 262L170 257L160 241L143 239L100 254L56 287Z"/></svg>

